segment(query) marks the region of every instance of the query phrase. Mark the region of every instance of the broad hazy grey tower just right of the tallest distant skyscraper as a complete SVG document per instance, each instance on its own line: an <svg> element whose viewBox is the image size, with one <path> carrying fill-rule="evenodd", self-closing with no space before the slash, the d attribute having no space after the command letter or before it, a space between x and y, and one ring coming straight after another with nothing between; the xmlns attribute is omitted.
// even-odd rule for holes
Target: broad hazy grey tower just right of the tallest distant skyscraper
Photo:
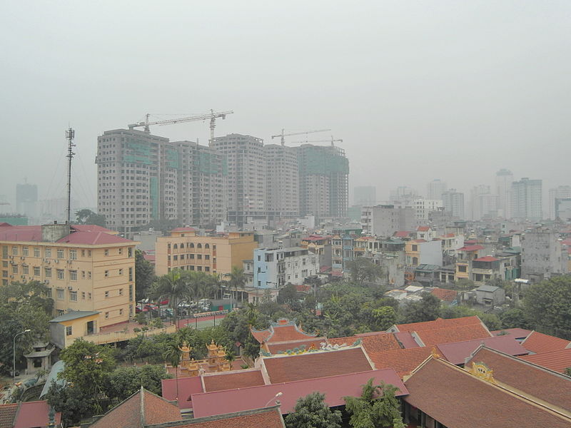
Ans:
<svg viewBox="0 0 571 428"><path fill-rule="evenodd" d="M510 213L512 218L538 221L542 219L542 182L522 178L514 181L510 190Z"/></svg>

